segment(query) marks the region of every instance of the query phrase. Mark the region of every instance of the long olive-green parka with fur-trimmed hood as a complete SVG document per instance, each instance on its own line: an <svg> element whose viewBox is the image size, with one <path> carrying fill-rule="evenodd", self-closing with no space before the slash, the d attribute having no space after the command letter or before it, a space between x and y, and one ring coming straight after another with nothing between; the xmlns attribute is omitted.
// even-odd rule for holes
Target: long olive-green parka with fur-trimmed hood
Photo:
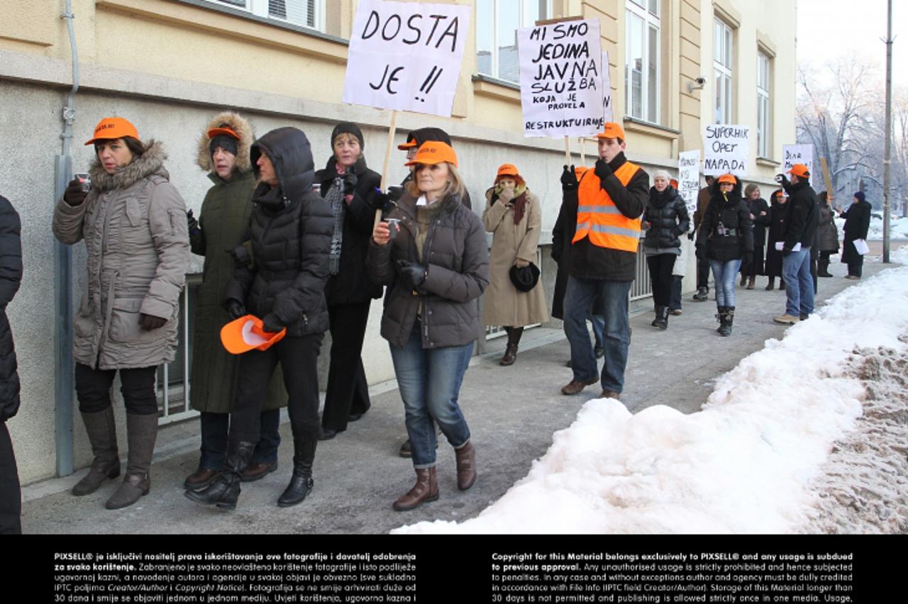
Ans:
<svg viewBox="0 0 908 604"><path fill-rule="evenodd" d="M212 128L227 126L240 135L237 141L236 166L230 180L214 171L211 152ZM242 244L252 214L252 190L255 175L249 159L254 136L252 126L233 112L215 115L199 137L196 163L208 172L214 183L202 201L199 214L200 232L192 236L192 252L205 257L202 286L195 297L195 335L192 337L192 370L190 401L196 411L230 413L236 396L239 356L231 355L221 345L221 328L230 315L222 306L224 288L233 277L233 259L227 252ZM271 375L268 395L262 409L287 405L281 367Z"/></svg>

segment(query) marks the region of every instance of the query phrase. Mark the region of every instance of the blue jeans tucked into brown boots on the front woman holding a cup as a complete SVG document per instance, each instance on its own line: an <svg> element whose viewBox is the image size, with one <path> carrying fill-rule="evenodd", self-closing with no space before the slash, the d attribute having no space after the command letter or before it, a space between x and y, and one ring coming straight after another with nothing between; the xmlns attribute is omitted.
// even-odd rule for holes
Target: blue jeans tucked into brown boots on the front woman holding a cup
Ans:
<svg viewBox="0 0 908 604"><path fill-rule="evenodd" d="M460 413L457 399L473 354L472 342L464 346L423 348L419 326L417 321L402 348L390 345L412 446L413 467L417 469L435 465L433 420L455 449L469 442L469 426Z"/></svg>

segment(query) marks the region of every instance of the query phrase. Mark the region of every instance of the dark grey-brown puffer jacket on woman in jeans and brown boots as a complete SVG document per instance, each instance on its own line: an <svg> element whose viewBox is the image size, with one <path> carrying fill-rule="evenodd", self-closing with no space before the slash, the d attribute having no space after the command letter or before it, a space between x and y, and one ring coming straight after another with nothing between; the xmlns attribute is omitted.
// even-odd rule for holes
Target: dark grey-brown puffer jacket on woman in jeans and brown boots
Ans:
<svg viewBox="0 0 908 604"><path fill-rule="evenodd" d="M388 218L400 219L400 233L384 246L370 243L366 268L373 283L388 286L381 336L395 346L410 338L419 312L422 347L463 346L482 334L479 296L489 285L489 248L486 229L457 195L444 204L429 226L423 246L423 264L428 269L416 295L400 283L398 260L419 263L416 249L416 198L404 193Z"/></svg>

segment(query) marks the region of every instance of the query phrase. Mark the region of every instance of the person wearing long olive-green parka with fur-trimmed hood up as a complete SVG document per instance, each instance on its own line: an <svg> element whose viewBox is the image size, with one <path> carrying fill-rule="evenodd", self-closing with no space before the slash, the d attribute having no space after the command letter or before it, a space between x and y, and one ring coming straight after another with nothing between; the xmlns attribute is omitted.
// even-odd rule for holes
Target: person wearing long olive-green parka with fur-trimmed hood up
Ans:
<svg viewBox="0 0 908 604"><path fill-rule="evenodd" d="M237 262L251 261L248 242L244 246L242 238L252 214L255 188L249 159L252 138L252 126L233 112L215 115L199 138L196 163L208 173L212 187L202 200L199 218L192 217L192 212L187 217L192 253L205 258L202 285L195 296L190 372L190 402L200 414L202 445L198 468L183 481L187 489L204 489L211 484L224 465L227 451L240 358L221 345L221 328L231 320L222 301L224 287L233 275L233 256ZM286 404L287 392L278 369L262 405L262 435L242 472L242 482L257 481L277 470L281 407Z"/></svg>

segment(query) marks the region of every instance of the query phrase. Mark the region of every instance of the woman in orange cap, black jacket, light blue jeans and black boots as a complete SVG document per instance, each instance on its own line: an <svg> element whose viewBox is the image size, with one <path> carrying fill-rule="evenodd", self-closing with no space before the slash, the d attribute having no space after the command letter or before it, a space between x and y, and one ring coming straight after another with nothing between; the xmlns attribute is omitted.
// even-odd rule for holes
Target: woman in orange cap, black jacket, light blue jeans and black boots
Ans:
<svg viewBox="0 0 908 604"><path fill-rule="evenodd" d="M754 257L750 208L741 198L741 181L723 174L713 184L706 216L696 238L696 257L708 258L716 278L720 336L731 336L735 320L735 277L741 262Z"/></svg>

